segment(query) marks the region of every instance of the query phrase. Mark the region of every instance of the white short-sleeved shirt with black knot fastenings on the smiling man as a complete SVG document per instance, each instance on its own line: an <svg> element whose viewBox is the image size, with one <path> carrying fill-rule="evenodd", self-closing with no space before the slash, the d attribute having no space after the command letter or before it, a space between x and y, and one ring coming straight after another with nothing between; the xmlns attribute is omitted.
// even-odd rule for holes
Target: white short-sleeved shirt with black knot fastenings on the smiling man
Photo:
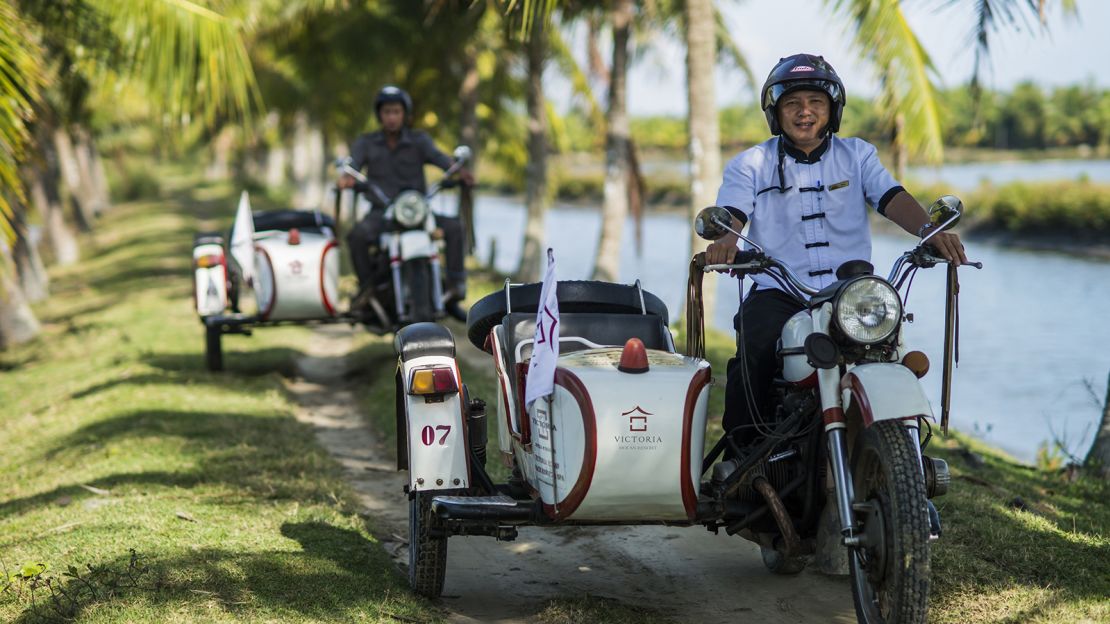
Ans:
<svg viewBox="0 0 1110 624"><path fill-rule="evenodd" d="M814 288L836 281L848 260L871 260L867 207L880 213L902 187L879 162L875 145L862 139L830 135L807 158L784 144L780 191L779 141L773 137L730 160L717 205L741 211L747 236ZM759 289L780 288L765 274L753 275Z"/></svg>

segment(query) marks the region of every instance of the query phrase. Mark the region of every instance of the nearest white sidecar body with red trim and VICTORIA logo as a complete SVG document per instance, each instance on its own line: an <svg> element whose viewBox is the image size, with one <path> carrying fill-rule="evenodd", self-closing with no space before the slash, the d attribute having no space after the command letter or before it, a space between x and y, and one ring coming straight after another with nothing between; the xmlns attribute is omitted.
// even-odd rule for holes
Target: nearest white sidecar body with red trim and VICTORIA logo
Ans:
<svg viewBox="0 0 1110 624"><path fill-rule="evenodd" d="M478 301L467 322L470 341L490 355L497 378L497 447L526 495L467 495L478 484L475 466L463 461L467 434L482 432L467 426L474 403L461 395L450 331L430 323L396 338L398 441L406 444L397 455L410 491L432 495L440 517L464 523L693 523L708 364L675 352L666 306L638 284L559 282L555 392L526 406L538 291L506 286ZM422 366L450 371L453 384L444 388L457 390L434 400L422 394ZM451 433L430 435L428 426Z"/></svg>

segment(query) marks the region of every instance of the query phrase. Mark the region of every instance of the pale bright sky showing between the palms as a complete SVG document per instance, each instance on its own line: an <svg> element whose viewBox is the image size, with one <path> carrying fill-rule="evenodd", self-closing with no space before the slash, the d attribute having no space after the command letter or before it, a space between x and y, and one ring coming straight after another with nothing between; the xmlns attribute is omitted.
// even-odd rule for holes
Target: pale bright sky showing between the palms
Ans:
<svg viewBox="0 0 1110 624"><path fill-rule="evenodd" d="M809 52L823 54L833 63L849 98L875 93L874 74L851 50L845 20L830 16L821 0L717 0L717 4L760 83L780 57ZM939 71L941 85L967 82L975 51L970 41L973 2L905 0L902 4L907 20ZM1017 82L1032 80L1043 87L1093 82L1110 88L1110 71L1098 60L1110 60L1110 1L1078 0L1078 18L1064 17L1059 0L1051 4L1047 32L1030 19L1020 31L995 33L990 71L985 74L988 87L1008 90ZM572 37L572 41L575 39ZM637 58L629 74L629 112L683 115L685 49L665 37L654 40L653 47ZM562 92L565 99L566 87L558 82L553 84L552 95L558 100ZM718 71L719 104L747 100L749 93L738 70Z"/></svg>

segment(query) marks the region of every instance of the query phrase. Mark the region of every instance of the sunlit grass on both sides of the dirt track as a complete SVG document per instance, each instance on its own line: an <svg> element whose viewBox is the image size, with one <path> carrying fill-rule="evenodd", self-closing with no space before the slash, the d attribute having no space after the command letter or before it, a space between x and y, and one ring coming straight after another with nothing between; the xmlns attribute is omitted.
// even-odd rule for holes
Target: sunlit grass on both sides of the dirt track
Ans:
<svg viewBox="0 0 1110 624"><path fill-rule="evenodd" d="M192 232L228 224L235 193L160 179L164 197L117 207L85 260L52 273L54 295L37 308L43 336L0 353L0 568L20 575L0 591L0 621L60 621L56 606L97 623L443 620L438 604L408 593L384 547L396 540L294 417L289 384L312 332L228 336L228 371L204 370L189 249ZM472 292L496 286L475 280ZM724 370L730 340L710 335L708 348ZM356 334L349 358L356 400L391 435L390 340ZM481 364L464 361L463 374L490 399ZM717 389L713 413L720 401ZM961 435L932 450L951 462L953 486L937 501L946 533L934 547L930 622L1110 618L1104 484L1032 470ZM70 565L95 593L64 575ZM31 582L46 577L73 598L39 584L32 604ZM652 618L638 606L567 596L535 620Z"/></svg>

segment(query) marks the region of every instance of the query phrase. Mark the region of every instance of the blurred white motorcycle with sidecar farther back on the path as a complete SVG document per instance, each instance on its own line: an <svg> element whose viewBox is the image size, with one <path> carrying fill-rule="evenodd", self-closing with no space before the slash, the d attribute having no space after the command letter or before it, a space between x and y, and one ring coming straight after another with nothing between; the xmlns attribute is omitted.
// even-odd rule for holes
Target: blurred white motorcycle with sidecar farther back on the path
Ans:
<svg viewBox="0 0 1110 624"><path fill-rule="evenodd" d="M403 191L385 211L375 286L356 305L341 310L339 217L320 211L252 211L244 192L228 238L219 232L193 240L193 303L205 330L205 364L223 369L222 336L251 335L258 328L281 324L362 323L379 334L444 315L438 230L428 201L450 187L451 177L471 158L470 148L454 152L455 163L427 193ZM373 184L340 161L342 172ZM337 190L336 190L337 191ZM254 292L256 312L244 313L240 293Z"/></svg>

